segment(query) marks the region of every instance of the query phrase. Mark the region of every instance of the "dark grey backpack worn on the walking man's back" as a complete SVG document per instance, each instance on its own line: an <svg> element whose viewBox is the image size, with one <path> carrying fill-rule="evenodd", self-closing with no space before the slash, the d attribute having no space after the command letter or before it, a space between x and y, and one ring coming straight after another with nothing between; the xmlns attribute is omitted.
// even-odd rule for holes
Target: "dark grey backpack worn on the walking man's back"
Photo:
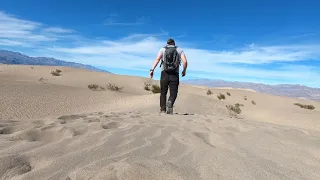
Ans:
<svg viewBox="0 0 320 180"><path fill-rule="evenodd" d="M177 46L165 47L164 56L162 58L163 70L166 72L176 72L180 65L180 56Z"/></svg>

